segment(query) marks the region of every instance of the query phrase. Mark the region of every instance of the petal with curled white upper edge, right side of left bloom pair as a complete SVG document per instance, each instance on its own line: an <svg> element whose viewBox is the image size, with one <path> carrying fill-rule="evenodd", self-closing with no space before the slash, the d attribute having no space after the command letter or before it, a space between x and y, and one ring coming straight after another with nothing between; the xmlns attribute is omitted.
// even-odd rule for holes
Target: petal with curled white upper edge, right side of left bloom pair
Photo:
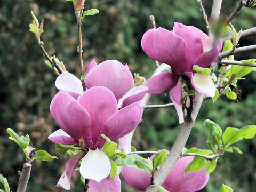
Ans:
<svg viewBox="0 0 256 192"><path fill-rule="evenodd" d="M133 87L124 95L124 97L119 99L118 108L124 108L126 106L129 106L131 103L142 100L147 93L147 90L148 87L143 85Z"/></svg>

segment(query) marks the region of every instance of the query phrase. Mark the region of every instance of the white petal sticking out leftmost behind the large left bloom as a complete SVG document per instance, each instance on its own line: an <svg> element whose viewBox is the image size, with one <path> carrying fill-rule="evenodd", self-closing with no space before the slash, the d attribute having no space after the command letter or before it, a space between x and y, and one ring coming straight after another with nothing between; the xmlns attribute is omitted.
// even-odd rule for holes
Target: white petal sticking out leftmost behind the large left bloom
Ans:
<svg viewBox="0 0 256 192"><path fill-rule="evenodd" d="M55 86L58 90L71 91L78 94L84 92L82 82L71 73L60 74L56 79Z"/></svg>

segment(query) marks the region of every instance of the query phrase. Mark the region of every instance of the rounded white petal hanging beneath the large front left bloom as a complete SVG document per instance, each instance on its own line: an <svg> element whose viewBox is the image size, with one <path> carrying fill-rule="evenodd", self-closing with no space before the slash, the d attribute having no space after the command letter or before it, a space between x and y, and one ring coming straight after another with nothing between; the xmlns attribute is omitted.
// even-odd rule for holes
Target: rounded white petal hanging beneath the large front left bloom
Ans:
<svg viewBox="0 0 256 192"><path fill-rule="evenodd" d="M111 170L108 156L98 148L89 149L82 160L80 173L86 179L93 179L100 182L106 178Z"/></svg>

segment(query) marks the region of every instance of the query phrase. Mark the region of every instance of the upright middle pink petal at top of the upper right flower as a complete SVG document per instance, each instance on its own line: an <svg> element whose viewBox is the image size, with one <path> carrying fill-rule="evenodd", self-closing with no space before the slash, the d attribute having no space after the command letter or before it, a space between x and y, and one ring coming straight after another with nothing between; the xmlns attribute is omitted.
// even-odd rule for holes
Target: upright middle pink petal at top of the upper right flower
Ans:
<svg viewBox="0 0 256 192"><path fill-rule="evenodd" d="M204 52L200 36L195 30L178 22L174 23L173 33L182 37L187 43L186 57L190 66L193 66L198 56Z"/></svg>

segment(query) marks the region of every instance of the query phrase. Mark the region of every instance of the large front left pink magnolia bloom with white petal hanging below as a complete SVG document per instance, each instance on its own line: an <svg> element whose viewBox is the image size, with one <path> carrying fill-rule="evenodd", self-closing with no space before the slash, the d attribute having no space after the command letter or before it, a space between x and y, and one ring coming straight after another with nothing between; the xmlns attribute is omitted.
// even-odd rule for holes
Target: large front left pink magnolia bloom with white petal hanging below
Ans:
<svg viewBox="0 0 256 192"><path fill-rule="evenodd" d="M83 92L78 99L66 91L58 92L51 102L50 109L52 117L61 129L53 132L49 139L65 145L76 143L88 149L86 154L81 151L69 159L57 186L70 189L71 175L83 158L80 173L84 178L90 179L89 191L100 191L93 189L108 183L109 190L105 191L119 192L119 177L107 178L111 166L108 156L100 150L106 142L101 134L114 141L133 131L142 116L141 101L118 110L113 92L104 86L93 86ZM114 186L116 190L112 190Z"/></svg>

